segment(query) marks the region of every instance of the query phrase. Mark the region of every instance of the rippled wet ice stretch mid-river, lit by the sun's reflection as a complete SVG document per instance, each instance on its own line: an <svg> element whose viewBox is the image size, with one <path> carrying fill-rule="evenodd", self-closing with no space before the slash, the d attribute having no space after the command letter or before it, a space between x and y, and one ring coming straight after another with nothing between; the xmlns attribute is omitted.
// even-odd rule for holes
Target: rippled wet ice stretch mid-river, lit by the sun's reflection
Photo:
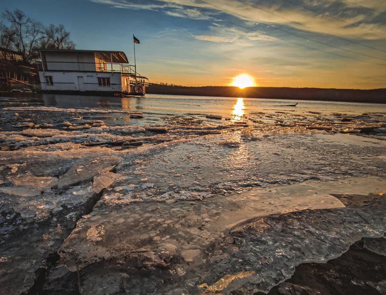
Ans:
<svg viewBox="0 0 386 295"><path fill-rule="evenodd" d="M251 141L242 131L235 131L196 139L133 160L128 157L117 170L125 177L105 195L110 202L124 196L124 203L195 200L277 183L382 175L374 157L383 162L385 144L360 138L357 145L334 142L347 137L276 134ZM235 147L229 147L229 143Z"/></svg>

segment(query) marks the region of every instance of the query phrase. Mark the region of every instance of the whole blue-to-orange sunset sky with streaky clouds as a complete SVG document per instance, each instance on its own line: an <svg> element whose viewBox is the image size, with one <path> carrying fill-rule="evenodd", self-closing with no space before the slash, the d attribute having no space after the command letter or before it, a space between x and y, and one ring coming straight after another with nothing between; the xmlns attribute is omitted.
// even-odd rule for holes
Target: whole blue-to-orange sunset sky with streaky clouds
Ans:
<svg viewBox="0 0 386 295"><path fill-rule="evenodd" d="M1 0L77 49L124 51L150 82L386 88L385 0Z"/></svg>

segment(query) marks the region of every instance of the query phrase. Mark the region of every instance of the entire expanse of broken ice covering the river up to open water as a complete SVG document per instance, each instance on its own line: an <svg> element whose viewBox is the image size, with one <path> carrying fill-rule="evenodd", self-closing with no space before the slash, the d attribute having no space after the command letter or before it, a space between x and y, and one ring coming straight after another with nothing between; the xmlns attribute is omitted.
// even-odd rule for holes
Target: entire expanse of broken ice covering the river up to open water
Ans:
<svg viewBox="0 0 386 295"><path fill-rule="evenodd" d="M267 292L384 235L382 107L123 102L0 100L1 291Z"/></svg>

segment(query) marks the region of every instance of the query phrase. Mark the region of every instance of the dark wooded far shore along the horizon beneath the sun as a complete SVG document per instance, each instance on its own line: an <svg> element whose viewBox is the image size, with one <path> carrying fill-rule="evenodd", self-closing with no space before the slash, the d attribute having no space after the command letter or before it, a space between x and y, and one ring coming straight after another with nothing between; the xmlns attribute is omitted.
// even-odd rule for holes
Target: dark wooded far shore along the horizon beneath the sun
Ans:
<svg viewBox="0 0 386 295"><path fill-rule="evenodd" d="M227 86L184 87L151 84L146 88L146 92L174 95L386 103L386 89L361 90L287 87L250 87L246 89L239 89L237 87Z"/></svg>

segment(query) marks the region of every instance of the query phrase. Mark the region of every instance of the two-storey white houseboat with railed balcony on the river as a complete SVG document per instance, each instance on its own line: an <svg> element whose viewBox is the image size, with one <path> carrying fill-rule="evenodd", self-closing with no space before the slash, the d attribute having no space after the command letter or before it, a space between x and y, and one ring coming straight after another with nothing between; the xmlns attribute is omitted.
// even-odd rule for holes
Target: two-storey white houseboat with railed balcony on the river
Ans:
<svg viewBox="0 0 386 295"><path fill-rule="evenodd" d="M144 95L146 77L122 51L40 49L39 76L46 92Z"/></svg>

